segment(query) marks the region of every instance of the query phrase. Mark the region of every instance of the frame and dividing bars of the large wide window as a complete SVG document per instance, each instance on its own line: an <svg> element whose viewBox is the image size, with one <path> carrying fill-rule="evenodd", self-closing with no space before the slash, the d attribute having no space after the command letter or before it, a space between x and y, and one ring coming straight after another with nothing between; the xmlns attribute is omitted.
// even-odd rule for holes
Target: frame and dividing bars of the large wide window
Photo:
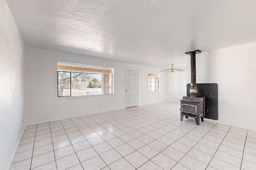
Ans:
<svg viewBox="0 0 256 170"><path fill-rule="evenodd" d="M58 64L61 63L61 64L70 64L70 69L69 70L59 70L58 69ZM73 70L72 71L72 65L80 65L82 66L82 71L75 71ZM67 98L67 97L81 97L81 96L102 96L102 95L113 95L114 94L114 67L107 67L107 66L95 66L95 65L88 65L88 64L78 64L78 63L69 63L69 62L63 62L63 61L57 61L56 62L56 66L57 66L57 98ZM84 70L84 68L86 67L93 67L93 72L87 72ZM102 68L102 72L95 72L96 69L95 68ZM110 71L110 73L106 74L104 71ZM68 79L70 81L70 88L63 88L63 89L70 89L70 95L69 96L60 96L59 95L59 89L61 89L59 87L59 72L69 72L70 73L70 79ZM72 95L72 73L82 73L82 74L92 74L93 76L94 75L101 75L101 86L100 86L100 89L101 89L101 94L88 94L88 92L84 95ZM108 87L108 90L110 91L110 93L105 93L105 76L109 76L111 77L110 80L108 80L107 82L111 83ZM89 83L90 84L90 83ZM103 93L103 94L102 94Z"/></svg>

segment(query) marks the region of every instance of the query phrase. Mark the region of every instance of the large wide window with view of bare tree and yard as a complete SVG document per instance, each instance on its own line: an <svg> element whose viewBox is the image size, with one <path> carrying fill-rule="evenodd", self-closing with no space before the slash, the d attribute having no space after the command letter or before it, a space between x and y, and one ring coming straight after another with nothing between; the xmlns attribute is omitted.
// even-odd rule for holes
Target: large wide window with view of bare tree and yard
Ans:
<svg viewBox="0 0 256 170"><path fill-rule="evenodd" d="M58 62L58 97L113 94L114 68Z"/></svg>

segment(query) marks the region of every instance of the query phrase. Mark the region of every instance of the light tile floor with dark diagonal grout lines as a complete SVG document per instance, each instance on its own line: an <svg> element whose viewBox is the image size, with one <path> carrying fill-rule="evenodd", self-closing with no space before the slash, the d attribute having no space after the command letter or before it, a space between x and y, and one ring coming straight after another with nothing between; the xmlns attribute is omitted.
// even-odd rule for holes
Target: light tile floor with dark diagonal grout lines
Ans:
<svg viewBox="0 0 256 170"><path fill-rule="evenodd" d="M256 170L256 132L161 102L27 126L10 170Z"/></svg>

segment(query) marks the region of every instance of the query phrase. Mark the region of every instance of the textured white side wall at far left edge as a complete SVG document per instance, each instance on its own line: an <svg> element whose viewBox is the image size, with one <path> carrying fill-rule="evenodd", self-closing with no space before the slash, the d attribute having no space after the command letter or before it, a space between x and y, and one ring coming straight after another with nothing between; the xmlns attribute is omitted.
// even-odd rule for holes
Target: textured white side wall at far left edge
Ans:
<svg viewBox="0 0 256 170"><path fill-rule="evenodd" d="M7 170L24 131L24 43L5 0L0 0L0 169Z"/></svg>

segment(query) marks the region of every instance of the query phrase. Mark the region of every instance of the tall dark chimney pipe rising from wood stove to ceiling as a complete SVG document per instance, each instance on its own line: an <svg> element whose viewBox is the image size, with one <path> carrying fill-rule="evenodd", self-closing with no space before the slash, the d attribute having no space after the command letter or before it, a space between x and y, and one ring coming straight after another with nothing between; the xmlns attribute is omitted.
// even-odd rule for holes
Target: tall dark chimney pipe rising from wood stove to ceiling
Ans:
<svg viewBox="0 0 256 170"><path fill-rule="evenodd" d="M185 54L190 55L190 65L191 65L191 86L189 89L190 96L196 97L198 89L196 87L196 54L201 53L200 50L189 51Z"/></svg>

